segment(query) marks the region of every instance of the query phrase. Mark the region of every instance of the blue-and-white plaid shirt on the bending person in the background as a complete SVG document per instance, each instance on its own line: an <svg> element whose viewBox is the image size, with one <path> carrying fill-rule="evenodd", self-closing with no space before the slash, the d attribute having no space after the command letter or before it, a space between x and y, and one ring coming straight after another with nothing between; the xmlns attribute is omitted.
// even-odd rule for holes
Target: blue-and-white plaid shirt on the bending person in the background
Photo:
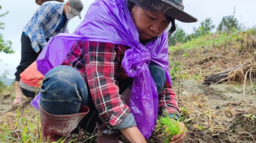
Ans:
<svg viewBox="0 0 256 143"><path fill-rule="evenodd" d="M62 14L63 8L64 3L56 1L43 3L23 29L36 53L40 51L39 45L44 48L47 43L46 38L50 39L60 32L65 32L69 19L65 19L66 16Z"/></svg>

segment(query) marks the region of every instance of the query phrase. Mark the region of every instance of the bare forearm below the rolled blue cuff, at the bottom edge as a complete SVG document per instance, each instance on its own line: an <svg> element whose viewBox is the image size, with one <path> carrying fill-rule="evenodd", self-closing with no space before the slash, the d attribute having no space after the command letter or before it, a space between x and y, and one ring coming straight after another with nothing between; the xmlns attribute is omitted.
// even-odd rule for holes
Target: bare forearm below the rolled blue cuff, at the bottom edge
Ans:
<svg viewBox="0 0 256 143"><path fill-rule="evenodd" d="M120 129L120 132L129 140L131 143L147 143L143 137L141 131L135 127Z"/></svg>

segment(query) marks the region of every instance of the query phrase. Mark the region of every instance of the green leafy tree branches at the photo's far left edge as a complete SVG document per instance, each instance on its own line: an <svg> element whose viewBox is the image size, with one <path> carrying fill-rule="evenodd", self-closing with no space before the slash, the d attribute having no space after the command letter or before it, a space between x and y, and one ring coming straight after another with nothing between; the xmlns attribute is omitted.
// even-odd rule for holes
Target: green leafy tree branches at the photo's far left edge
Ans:
<svg viewBox="0 0 256 143"><path fill-rule="evenodd" d="M0 5L0 10L2 9L2 6ZM5 12L4 14L0 14L0 18L7 15L9 11ZM4 29L4 23L0 21L0 29ZM13 49L11 49L11 41L4 41L3 35L0 33L0 53L4 52L7 54L14 53Z"/></svg>

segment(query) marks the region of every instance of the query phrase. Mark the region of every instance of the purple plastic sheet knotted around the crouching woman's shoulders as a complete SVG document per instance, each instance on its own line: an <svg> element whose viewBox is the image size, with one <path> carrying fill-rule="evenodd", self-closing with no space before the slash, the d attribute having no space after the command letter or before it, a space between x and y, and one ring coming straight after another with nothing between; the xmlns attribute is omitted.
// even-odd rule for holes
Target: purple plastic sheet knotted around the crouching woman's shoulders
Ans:
<svg viewBox="0 0 256 143"><path fill-rule="evenodd" d="M126 0L96 0L73 34L53 37L36 62L38 70L45 75L63 62L75 41L108 42L131 47L125 51L122 62L129 77L135 77L129 107L137 127L145 138L149 138L155 127L159 103L148 65L153 61L164 68L167 82L171 83L167 39L167 31L164 31L159 38L143 46ZM37 109L39 98L40 95L32 101Z"/></svg>

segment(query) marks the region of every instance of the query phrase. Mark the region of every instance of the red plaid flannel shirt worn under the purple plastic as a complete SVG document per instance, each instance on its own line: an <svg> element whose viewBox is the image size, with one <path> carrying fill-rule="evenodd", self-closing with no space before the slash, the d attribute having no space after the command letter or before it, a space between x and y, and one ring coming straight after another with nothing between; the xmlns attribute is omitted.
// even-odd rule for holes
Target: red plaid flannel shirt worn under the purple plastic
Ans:
<svg viewBox="0 0 256 143"><path fill-rule="evenodd" d="M129 47L77 41L63 61L63 65L74 67L80 72L90 89L101 120L112 126L120 124L130 113L118 87L118 81L128 77L121 66L126 48ZM159 96L159 109L169 114L180 112L169 83L166 83Z"/></svg>

